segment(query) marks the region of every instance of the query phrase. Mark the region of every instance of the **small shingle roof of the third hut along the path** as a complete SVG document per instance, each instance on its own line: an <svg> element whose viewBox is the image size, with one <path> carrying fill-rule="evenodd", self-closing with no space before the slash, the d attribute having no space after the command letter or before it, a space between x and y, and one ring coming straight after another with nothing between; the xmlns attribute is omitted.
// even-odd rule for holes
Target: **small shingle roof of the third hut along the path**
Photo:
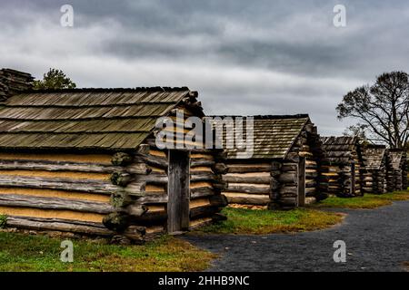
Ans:
<svg viewBox="0 0 409 290"><path fill-rule="evenodd" d="M325 159L333 164L346 164L353 160L353 151L357 149L356 137L322 137Z"/></svg>

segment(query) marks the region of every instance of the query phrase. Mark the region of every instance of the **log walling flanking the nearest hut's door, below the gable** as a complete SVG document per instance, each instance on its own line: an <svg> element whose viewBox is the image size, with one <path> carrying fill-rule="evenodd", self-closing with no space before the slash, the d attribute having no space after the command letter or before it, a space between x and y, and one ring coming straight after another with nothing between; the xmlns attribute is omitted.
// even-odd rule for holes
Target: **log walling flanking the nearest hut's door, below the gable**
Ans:
<svg viewBox="0 0 409 290"><path fill-rule="evenodd" d="M217 215L227 205L221 195L221 180L214 160L219 154L210 150L190 152L190 228L203 226L219 218ZM153 142L140 145L140 150L131 157L132 163L125 167L126 175L132 175L129 168L146 166L146 174L126 180L119 190L115 203L116 213L107 218L107 227L115 221L138 228L144 227L146 238L165 233L168 202L168 151L159 150ZM144 163L145 162L145 163ZM223 166L222 166L223 167ZM135 190L137 189L137 190ZM114 222L113 222L114 220Z"/></svg>

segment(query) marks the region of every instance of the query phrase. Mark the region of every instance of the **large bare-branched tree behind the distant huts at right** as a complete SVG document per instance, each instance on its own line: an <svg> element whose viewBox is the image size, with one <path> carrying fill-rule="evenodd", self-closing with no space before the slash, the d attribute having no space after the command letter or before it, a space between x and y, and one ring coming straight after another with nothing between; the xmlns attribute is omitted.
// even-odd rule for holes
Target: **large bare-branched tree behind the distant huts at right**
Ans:
<svg viewBox="0 0 409 290"><path fill-rule="evenodd" d="M402 149L409 140L409 76L404 72L383 73L373 85L364 85L344 95L338 118L358 120L356 128L372 141Z"/></svg>

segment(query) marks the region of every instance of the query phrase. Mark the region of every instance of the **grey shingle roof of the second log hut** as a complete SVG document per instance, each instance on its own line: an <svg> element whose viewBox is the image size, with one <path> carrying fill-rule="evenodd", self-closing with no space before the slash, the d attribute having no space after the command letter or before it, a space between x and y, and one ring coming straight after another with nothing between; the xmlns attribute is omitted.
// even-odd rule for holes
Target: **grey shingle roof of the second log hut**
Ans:
<svg viewBox="0 0 409 290"><path fill-rule="evenodd" d="M242 117L242 116L212 116L212 117ZM245 116L243 116L246 118ZM247 116L252 117L252 116ZM304 129L304 125L310 121L308 115L284 115L284 116L253 116L254 117L254 154L253 159L284 159L294 144L295 139ZM244 119L245 129L245 119ZM225 132L225 131L224 131ZM225 149L226 140L234 140L234 131L224 133L224 150L227 158L235 159L237 149ZM245 141L245 135L244 135ZM234 143L235 144L235 143Z"/></svg>

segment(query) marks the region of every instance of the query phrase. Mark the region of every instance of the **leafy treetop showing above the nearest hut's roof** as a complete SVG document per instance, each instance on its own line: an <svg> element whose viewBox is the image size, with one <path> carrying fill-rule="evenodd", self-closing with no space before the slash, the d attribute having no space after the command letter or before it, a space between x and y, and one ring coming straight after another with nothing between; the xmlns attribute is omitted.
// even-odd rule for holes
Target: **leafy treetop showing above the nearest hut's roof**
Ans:
<svg viewBox="0 0 409 290"><path fill-rule="evenodd" d="M35 90L74 89L76 84L63 71L50 68L43 80L34 81L33 87Z"/></svg>

